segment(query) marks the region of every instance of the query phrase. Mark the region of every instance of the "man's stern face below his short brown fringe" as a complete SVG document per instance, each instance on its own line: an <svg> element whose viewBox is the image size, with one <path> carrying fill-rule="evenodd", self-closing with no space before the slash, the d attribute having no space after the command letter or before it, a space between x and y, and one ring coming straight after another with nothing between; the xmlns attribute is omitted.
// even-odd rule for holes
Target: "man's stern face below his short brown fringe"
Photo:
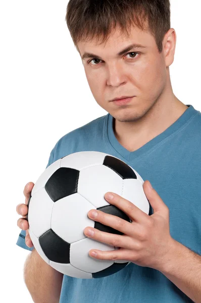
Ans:
<svg viewBox="0 0 201 303"><path fill-rule="evenodd" d="M117 55L131 44L145 47ZM105 44L91 41L79 42L77 46L81 58L84 53L96 55L83 60L89 87L97 104L120 122L143 117L167 84L165 51L159 54L156 41L148 31L132 27L128 38L116 29ZM121 96L135 97L123 106L110 101Z"/></svg>

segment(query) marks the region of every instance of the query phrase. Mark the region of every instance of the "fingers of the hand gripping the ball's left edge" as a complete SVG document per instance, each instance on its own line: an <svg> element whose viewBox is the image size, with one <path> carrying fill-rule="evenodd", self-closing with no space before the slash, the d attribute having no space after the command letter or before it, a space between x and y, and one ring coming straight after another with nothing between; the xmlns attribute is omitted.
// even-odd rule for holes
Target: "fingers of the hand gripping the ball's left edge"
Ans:
<svg viewBox="0 0 201 303"><path fill-rule="evenodd" d="M17 221L17 225L19 228L21 228L22 230L26 230L26 237L25 237L25 243L28 247L32 247L33 246L33 243L31 241L31 238L30 238L30 235L29 235L29 231L28 231L28 228L29 228L29 223L26 219L23 219L23 218L26 218L26 215L28 213L28 207L27 207L27 204L28 204L28 200L29 200L29 197L30 197L30 194L31 194L31 190L34 186L34 183L33 182L29 182L25 187L24 187L24 195L25 195L25 204L18 204L17 207L16 207L16 211L19 215L22 215L22 218L18 219Z"/></svg>

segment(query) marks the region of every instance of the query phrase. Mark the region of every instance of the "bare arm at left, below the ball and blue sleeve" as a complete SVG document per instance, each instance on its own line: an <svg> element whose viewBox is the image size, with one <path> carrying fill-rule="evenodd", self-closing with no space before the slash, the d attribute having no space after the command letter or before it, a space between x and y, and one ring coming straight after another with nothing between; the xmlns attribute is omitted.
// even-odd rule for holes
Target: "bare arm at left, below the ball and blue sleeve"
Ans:
<svg viewBox="0 0 201 303"><path fill-rule="evenodd" d="M24 280L35 303L59 303L63 274L49 266L35 249L26 259Z"/></svg>

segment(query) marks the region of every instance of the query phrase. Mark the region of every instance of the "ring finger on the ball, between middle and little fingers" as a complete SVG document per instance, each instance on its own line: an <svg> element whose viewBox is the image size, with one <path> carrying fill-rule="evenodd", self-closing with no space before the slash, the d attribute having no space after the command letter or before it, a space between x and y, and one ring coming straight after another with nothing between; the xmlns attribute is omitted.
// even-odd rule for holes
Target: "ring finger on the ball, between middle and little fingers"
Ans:
<svg viewBox="0 0 201 303"><path fill-rule="evenodd" d="M133 239L126 235L111 234L109 232L99 231L98 229L91 227L86 227L84 229L84 234L89 238L109 245L123 247L127 249L134 248Z"/></svg>

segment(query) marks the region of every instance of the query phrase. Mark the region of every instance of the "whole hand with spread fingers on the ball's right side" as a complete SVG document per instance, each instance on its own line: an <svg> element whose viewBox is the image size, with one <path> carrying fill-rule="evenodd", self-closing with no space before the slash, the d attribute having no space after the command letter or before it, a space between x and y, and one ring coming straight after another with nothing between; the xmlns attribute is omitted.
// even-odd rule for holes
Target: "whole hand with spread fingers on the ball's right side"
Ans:
<svg viewBox="0 0 201 303"><path fill-rule="evenodd" d="M119 249L110 251L91 249L89 251L91 257L100 260L126 260L139 266L158 270L165 266L169 258L168 251L175 242L170 235L169 209L157 191L149 187L149 184L148 180L145 181L143 190L154 210L154 214L151 216L115 193L112 193L114 195L112 199L108 199L108 193L106 193L106 200L122 210L132 220L132 223L102 211L89 211L88 217L90 219L124 233L123 235L111 234L86 227L84 229L86 236L119 247ZM92 217L93 211L97 213L95 218ZM88 230L92 230L94 235L87 234ZM97 255L91 255L92 251L95 251Z"/></svg>

